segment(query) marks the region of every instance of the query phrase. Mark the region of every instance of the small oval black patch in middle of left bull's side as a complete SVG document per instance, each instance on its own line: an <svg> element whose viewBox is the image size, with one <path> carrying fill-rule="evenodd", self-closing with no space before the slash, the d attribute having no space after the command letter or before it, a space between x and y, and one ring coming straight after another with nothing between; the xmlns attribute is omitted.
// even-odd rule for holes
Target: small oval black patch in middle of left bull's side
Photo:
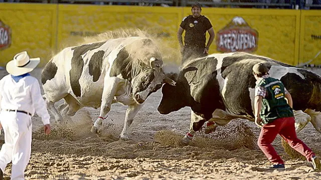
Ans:
<svg viewBox="0 0 321 180"><path fill-rule="evenodd" d="M89 74L92 75L92 80L96 82L101 75L102 60L105 51L99 50L95 52L89 61Z"/></svg>

